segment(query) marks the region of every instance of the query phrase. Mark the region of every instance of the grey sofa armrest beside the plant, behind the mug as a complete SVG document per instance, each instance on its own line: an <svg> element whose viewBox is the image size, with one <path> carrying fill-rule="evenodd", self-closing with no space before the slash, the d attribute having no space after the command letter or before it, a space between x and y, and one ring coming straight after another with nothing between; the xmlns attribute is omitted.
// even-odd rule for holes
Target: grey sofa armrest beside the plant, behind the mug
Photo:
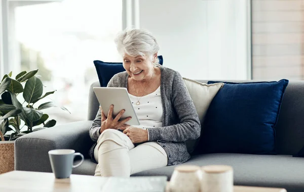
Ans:
<svg viewBox="0 0 304 192"><path fill-rule="evenodd" d="M52 172L48 152L72 149L89 157L93 121L78 121L28 133L15 141L15 170Z"/></svg>

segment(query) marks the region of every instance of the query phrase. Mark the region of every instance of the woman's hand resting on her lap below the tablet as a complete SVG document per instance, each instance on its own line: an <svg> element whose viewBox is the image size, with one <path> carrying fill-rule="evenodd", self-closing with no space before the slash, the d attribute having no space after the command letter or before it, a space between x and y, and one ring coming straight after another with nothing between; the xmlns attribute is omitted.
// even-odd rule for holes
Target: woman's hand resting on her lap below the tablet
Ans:
<svg viewBox="0 0 304 192"><path fill-rule="evenodd" d="M148 130L137 127L121 127L133 143L145 142L148 140Z"/></svg>

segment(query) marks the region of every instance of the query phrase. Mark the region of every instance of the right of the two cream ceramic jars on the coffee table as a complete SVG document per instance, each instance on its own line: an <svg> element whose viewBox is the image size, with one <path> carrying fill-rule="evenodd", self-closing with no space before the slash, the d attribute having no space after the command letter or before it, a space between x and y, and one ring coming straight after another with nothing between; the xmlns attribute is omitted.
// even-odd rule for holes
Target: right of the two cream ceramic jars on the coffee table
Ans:
<svg viewBox="0 0 304 192"><path fill-rule="evenodd" d="M202 167L203 192L233 192L233 168L227 165Z"/></svg>

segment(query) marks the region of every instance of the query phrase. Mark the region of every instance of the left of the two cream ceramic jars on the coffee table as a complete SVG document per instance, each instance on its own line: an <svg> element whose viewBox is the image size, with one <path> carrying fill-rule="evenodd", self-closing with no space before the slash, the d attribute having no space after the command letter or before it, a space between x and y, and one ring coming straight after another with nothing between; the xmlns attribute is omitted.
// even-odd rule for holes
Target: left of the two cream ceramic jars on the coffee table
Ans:
<svg viewBox="0 0 304 192"><path fill-rule="evenodd" d="M201 191L202 170L195 165L180 165L171 176L170 192Z"/></svg>

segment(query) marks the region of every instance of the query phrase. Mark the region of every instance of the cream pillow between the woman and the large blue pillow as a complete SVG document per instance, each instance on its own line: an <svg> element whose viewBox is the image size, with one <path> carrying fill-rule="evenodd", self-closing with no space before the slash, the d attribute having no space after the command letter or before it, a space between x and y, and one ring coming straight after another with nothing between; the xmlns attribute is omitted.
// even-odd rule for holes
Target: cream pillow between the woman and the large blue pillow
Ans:
<svg viewBox="0 0 304 192"><path fill-rule="evenodd" d="M209 105L224 83L206 84L185 77L183 77L183 80L198 112L201 125L203 125ZM199 139L186 141L187 149L190 154L197 147L198 142Z"/></svg>

